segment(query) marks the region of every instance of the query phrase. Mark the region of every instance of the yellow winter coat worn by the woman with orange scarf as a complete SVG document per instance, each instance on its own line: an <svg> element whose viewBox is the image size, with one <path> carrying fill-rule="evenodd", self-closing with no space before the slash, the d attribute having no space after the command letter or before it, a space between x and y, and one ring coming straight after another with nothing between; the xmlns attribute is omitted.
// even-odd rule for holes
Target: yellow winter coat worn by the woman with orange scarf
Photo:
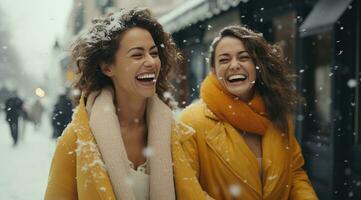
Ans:
<svg viewBox="0 0 361 200"><path fill-rule="evenodd" d="M281 134L271 125L262 137L261 179L256 157L243 138L203 101L186 108L180 118L196 134L178 135L179 147L172 149L178 199L318 199L302 169L293 127Z"/></svg>

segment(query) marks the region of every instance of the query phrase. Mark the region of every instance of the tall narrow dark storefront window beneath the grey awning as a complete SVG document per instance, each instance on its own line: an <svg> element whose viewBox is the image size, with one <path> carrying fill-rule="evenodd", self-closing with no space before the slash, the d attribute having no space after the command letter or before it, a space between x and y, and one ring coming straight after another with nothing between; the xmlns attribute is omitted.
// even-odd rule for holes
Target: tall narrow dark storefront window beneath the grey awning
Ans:
<svg viewBox="0 0 361 200"><path fill-rule="evenodd" d="M305 38L306 65L302 69L307 109L304 113L307 130L312 133L328 135L331 123L331 79L333 68L331 32Z"/></svg>

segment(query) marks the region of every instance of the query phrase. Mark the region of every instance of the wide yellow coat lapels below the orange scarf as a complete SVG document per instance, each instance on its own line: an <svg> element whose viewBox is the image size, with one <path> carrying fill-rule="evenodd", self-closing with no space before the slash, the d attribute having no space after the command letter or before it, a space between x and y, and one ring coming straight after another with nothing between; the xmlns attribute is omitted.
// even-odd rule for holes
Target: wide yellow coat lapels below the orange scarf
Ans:
<svg viewBox="0 0 361 200"><path fill-rule="evenodd" d="M220 119L204 104L204 115ZM287 181L287 167L291 163L287 134L281 134L272 124L262 137L262 179L256 157L239 132L227 122L217 123L207 132L206 142L233 174L264 199L270 197L278 184ZM260 178L257 178L260 177Z"/></svg>

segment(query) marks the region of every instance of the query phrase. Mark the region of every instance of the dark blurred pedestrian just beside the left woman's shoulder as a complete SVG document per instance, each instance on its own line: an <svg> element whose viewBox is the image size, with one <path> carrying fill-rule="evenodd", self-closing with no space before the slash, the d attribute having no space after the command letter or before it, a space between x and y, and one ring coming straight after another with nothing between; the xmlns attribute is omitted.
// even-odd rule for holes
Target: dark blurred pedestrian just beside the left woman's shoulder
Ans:
<svg viewBox="0 0 361 200"><path fill-rule="evenodd" d="M73 114L73 104L69 97L65 94L59 96L58 101L54 105L52 114L53 138L58 138L68 123L71 121Z"/></svg>

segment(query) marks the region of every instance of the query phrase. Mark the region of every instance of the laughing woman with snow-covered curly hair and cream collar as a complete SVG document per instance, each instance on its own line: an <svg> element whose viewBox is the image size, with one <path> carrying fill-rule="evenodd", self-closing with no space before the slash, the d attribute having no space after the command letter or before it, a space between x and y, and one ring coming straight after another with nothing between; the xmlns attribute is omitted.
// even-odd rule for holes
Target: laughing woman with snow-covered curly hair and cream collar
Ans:
<svg viewBox="0 0 361 200"><path fill-rule="evenodd" d="M93 21L74 44L81 91L45 199L175 199L169 74L179 53L149 10ZM186 130L186 127L185 129Z"/></svg>

